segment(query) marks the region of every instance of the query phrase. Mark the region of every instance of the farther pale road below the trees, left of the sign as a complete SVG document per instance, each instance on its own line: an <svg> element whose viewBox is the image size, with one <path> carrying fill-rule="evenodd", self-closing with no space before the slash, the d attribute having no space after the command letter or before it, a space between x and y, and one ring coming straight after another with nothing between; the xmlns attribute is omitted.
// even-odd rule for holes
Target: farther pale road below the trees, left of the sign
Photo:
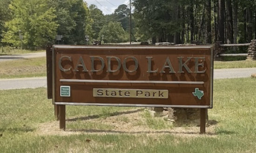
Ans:
<svg viewBox="0 0 256 153"><path fill-rule="evenodd" d="M15 59L23 59L23 58L34 58L34 57L46 57L46 52L34 52L34 53L27 53L27 54L16 54L16 55L4 55L0 56L0 62L3 61L10 61Z"/></svg>

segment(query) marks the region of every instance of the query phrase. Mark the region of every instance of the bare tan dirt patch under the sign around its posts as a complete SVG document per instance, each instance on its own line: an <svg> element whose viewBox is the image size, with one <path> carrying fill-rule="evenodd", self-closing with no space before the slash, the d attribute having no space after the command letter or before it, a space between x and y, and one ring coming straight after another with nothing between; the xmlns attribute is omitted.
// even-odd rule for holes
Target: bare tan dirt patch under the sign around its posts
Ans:
<svg viewBox="0 0 256 153"><path fill-rule="evenodd" d="M113 129L66 129L66 131L59 129L59 121L51 121L38 125L36 133L39 135L70 135L70 134L147 134L152 137L159 136L159 134L173 134L180 137L215 137L215 126L209 125L206 127L206 134L200 134L200 127L170 127L168 129L155 130L149 128L145 124L143 111L131 111L129 114L117 114L107 118L90 118L84 117L80 120L81 124L87 122L98 122L110 125ZM76 118L71 118L66 121L66 124L75 122Z"/></svg>

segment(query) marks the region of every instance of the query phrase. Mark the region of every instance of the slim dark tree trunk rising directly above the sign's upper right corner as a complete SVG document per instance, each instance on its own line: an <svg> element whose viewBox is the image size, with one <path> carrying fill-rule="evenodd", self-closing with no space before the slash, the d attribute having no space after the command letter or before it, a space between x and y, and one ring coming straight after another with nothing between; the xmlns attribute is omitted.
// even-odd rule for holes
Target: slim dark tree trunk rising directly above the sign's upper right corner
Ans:
<svg viewBox="0 0 256 153"><path fill-rule="evenodd" d="M212 34L211 34L211 0L206 0L206 43L212 43Z"/></svg>

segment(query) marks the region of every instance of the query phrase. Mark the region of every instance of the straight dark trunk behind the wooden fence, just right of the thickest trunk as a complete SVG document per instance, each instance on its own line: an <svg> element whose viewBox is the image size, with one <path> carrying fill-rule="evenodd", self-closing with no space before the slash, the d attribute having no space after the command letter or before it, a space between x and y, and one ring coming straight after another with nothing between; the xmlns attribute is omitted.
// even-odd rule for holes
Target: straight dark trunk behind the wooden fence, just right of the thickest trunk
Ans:
<svg viewBox="0 0 256 153"><path fill-rule="evenodd" d="M233 44L234 43L234 37L233 37L233 14L232 14L232 1L227 0L227 44Z"/></svg>

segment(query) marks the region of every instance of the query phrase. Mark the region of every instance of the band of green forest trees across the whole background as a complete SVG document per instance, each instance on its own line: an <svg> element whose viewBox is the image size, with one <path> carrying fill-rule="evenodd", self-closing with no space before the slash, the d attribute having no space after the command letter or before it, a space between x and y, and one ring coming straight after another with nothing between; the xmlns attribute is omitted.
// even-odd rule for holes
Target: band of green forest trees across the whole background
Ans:
<svg viewBox="0 0 256 153"><path fill-rule="evenodd" d="M248 43L256 38L256 0L132 0L132 41ZM0 0L0 45L129 41L129 4L104 15L84 0ZM56 35L62 35L60 42Z"/></svg>

